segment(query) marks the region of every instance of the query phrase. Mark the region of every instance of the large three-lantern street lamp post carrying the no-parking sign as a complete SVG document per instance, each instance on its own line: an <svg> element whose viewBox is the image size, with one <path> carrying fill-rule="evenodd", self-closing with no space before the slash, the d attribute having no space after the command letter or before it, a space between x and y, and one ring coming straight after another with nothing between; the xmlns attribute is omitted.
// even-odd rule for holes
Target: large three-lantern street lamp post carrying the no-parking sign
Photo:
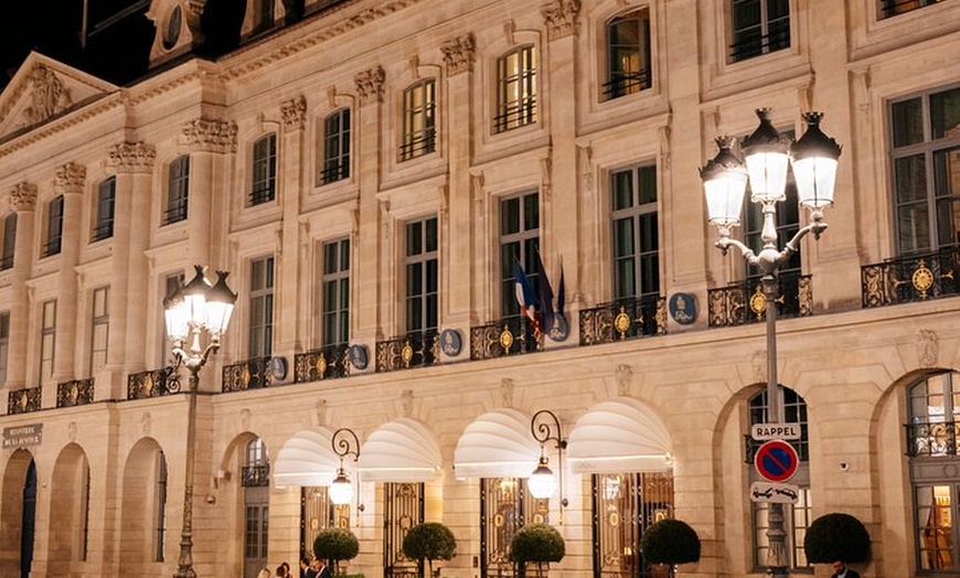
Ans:
<svg viewBox="0 0 960 578"><path fill-rule="evenodd" d="M734 139L716 139L719 152L701 169L708 223L716 226L719 238L716 246L726 255L736 247L749 265L760 269L760 283L765 299L767 329L767 419L779 422L783 417L782 399L777 382L777 293L779 292L780 265L799 250L800 239L812 233L814 238L826 229L823 208L833 204L833 188L836 181L836 164L840 146L820 130L820 113L806 113L807 131L800 140L789 142L769 119L770 109L757 109L760 126L743 141L746 167L733 152ZM800 206L809 210L809 223L800 228L783 249L777 248L775 215L777 203L786 199L787 165L793 168ZM740 224L740 212L747 180L750 183L750 200L764 211L764 229L760 238L764 248L754 253L738 239L732 238L733 227ZM789 575L783 524L783 505L769 504L767 538L769 549L767 566L775 578Z"/></svg>

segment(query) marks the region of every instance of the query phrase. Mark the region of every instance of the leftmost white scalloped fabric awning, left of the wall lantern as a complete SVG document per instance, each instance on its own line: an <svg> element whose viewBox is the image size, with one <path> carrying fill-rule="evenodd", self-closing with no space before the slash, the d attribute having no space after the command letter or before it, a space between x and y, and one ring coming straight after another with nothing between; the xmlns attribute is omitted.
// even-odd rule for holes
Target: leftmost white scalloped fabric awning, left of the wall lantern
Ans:
<svg viewBox="0 0 960 578"><path fill-rule="evenodd" d="M320 427L295 434L277 452L270 468L274 484L330 485L340 468L340 458L333 453L331 438L333 432Z"/></svg>

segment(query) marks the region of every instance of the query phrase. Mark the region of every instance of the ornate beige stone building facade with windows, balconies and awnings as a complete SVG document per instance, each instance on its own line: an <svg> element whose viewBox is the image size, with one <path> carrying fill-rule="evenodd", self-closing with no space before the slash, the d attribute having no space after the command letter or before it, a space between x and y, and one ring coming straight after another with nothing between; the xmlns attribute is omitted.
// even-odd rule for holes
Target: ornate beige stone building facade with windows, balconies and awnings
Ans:
<svg viewBox="0 0 960 578"><path fill-rule="evenodd" d="M844 146L781 276L792 571L829 575L804 529L845 512L863 576L960 576L960 3L247 2L215 60L190 56L203 3L152 3L128 86L34 53L0 95L0 577L171 575L191 453L201 577L296 567L328 526L360 538L350 572L414 576L420 521L458 538L444 576L514 576L537 521L554 575L646 576L661 517L703 543L684 575L764 576L756 271L712 246L697 175L758 107ZM189 452L162 301L195 264L238 300Z"/></svg>

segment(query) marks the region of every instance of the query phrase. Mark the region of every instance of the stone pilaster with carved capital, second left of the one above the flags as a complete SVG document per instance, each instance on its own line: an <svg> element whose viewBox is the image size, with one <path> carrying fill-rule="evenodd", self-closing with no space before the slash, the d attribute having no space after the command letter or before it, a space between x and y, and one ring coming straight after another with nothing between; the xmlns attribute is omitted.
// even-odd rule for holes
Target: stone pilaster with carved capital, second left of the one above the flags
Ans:
<svg viewBox="0 0 960 578"><path fill-rule="evenodd" d="M383 339L383 327L378 314L381 298L380 282L376 276L358 275L358 265L363 263L376 270L380 264L380 247L382 236L392 235L390 215L381 214L381 206L376 199L380 191L381 174L381 133L383 122L383 82L385 73L376 66L354 76L353 82L358 95L356 135L367 138L359 138L356 150L359 162L358 183L360 185L360 204L358 218L353 223L353 232L350 236L351 245L351 302L350 302L350 333L351 335L372 335L374 339ZM359 235L360 229L377 232L378 234ZM372 264L372 265L371 265ZM362 282L360 282L362 281ZM367 343L373 351L374 343Z"/></svg>

